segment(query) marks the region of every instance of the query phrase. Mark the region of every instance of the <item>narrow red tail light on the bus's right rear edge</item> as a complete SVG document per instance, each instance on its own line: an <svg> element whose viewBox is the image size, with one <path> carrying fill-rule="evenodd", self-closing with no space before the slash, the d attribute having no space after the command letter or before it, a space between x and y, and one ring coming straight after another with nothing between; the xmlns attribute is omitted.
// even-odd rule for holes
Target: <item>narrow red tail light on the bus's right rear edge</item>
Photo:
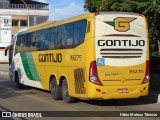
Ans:
<svg viewBox="0 0 160 120"><path fill-rule="evenodd" d="M146 61L146 73L145 73L145 77L144 77L144 80L142 82L142 84L144 83L147 83L150 79L150 62L149 61Z"/></svg>

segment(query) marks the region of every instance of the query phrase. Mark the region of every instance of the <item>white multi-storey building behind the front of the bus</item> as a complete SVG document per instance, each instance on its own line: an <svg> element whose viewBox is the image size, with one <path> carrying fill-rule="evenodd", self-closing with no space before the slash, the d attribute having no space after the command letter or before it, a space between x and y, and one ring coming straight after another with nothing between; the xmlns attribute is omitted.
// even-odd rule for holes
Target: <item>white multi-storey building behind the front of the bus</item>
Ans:
<svg viewBox="0 0 160 120"><path fill-rule="evenodd" d="M8 63L4 50L20 29L47 21L49 5L32 0L0 0L0 64Z"/></svg>

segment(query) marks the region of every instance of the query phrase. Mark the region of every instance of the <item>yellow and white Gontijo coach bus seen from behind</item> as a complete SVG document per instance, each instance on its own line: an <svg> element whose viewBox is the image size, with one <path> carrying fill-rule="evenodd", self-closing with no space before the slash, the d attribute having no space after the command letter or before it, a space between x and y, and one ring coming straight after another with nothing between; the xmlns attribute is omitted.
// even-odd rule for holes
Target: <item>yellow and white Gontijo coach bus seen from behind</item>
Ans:
<svg viewBox="0 0 160 120"><path fill-rule="evenodd" d="M13 37L10 78L53 99L148 94L149 40L143 15L89 13L23 29Z"/></svg>

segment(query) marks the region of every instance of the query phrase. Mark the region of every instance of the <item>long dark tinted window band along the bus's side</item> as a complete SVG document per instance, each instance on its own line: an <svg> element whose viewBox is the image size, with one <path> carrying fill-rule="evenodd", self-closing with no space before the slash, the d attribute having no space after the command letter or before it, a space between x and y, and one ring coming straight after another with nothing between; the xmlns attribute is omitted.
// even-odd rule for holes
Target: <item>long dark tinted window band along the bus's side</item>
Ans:
<svg viewBox="0 0 160 120"><path fill-rule="evenodd" d="M73 48L85 38L86 20L51 27L17 36L19 51ZM24 47L21 47L24 46Z"/></svg>

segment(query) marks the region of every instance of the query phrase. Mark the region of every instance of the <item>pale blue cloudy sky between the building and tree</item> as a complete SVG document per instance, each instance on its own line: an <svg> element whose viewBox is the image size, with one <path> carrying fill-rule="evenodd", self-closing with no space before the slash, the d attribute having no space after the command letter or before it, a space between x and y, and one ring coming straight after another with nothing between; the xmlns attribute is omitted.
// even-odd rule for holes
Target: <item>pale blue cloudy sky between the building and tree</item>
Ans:
<svg viewBox="0 0 160 120"><path fill-rule="evenodd" d="M49 4L49 20L62 20L80 14L84 11L84 0L34 0Z"/></svg>

